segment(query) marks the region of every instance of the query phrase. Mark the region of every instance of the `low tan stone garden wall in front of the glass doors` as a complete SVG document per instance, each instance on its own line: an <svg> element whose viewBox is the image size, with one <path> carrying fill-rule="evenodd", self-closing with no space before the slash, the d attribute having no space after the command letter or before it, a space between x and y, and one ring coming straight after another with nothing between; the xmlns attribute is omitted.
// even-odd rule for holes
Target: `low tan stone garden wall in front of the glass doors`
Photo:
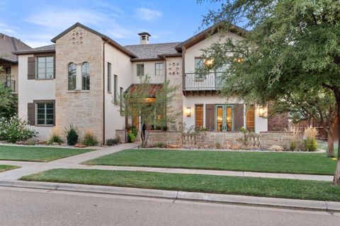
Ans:
<svg viewBox="0 0 340 226"><path fill-rule="evenodd" d="M260 147L269 148L271 145L280 145L289 150L290 143L296 141L297 150L302 148L302 137L295 138L292 133L280 133L280 132L269 132L260 133ZM232 133L215 133L207 132L202 138L196 139L196 147L215 147L216 142L220 143L222 148L237 149L242 148L239 143L239 138L244 138L243 133L232 132ZM151 131L149 135L149 145L155 145L156 143L166 143L169 145L182 145L182 137L180 132L172 131ZM185 143L191 143L186 141ZM189 147L191 145L188 145Z"/></svg>

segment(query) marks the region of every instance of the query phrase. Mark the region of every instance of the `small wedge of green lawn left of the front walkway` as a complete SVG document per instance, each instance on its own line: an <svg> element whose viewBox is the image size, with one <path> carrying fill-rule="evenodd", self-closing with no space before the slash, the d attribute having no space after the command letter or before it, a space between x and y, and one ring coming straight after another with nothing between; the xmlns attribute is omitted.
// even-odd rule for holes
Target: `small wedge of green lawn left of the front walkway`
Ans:
<svg viewBox="0 0 340 226"><path fill-rule="evenodd" d="M91 150L0 145L0 160L50 162L89 151Z"/></svg>

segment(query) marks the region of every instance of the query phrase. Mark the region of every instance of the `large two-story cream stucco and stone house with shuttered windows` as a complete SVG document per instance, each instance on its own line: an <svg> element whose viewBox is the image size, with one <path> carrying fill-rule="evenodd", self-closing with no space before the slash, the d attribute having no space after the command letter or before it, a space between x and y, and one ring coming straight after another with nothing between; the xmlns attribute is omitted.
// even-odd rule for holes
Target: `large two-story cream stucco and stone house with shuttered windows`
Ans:
<svg viewBox="0 0 340 226"><path fill-rule="evenodd" d="M160 44L149 44L151 35L142 32L140 44L123 47L76 23L54 37L53 45L14 52L19 62L19 115L35 126L39 139L46 139L52 126L64 129L73 124L81 136L91 129L104 142L132 122L120 115L119 97L148 74L154 85L169 80L181 87L171 111L183 117L172 122L169 130L178 130L182 123L216 132L242 126L256 133L287 128L288 119L260 116L266 107L246 111L237 99L219 97L220 72L204 78L195 72L205 64L201 49L226 38L217 33L208 37L210 29L184 42ZM235 27L227 36L237 41L242 32Z"/></svg>

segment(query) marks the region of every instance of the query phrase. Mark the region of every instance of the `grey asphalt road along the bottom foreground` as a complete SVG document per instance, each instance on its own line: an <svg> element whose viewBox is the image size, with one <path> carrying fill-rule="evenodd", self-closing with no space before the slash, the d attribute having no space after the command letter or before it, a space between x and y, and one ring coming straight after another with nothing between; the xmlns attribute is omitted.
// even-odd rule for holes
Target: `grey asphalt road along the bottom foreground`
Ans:
<svg viewBox="0 0 340 226"><path fill-rule="evenodd" d="M340 213L0 187L0 225L339 225Z"/></svg>

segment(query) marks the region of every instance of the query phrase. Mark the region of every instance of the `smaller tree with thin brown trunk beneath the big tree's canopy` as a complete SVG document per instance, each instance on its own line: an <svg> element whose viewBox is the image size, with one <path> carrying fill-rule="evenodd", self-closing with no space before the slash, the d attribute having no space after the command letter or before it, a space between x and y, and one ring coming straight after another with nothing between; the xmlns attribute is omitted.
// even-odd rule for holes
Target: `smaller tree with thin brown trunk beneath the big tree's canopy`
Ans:
<svg viewBox="0 0 340 226"><path fill-rule="evenodd" d="M289 93L276 100L271 106L271 114L289 112L296 124L313 119L327 132L327 156L334 157L334 126L336 123L336 101L333 93L325 88L306 90L306 93Z"/></svg>

